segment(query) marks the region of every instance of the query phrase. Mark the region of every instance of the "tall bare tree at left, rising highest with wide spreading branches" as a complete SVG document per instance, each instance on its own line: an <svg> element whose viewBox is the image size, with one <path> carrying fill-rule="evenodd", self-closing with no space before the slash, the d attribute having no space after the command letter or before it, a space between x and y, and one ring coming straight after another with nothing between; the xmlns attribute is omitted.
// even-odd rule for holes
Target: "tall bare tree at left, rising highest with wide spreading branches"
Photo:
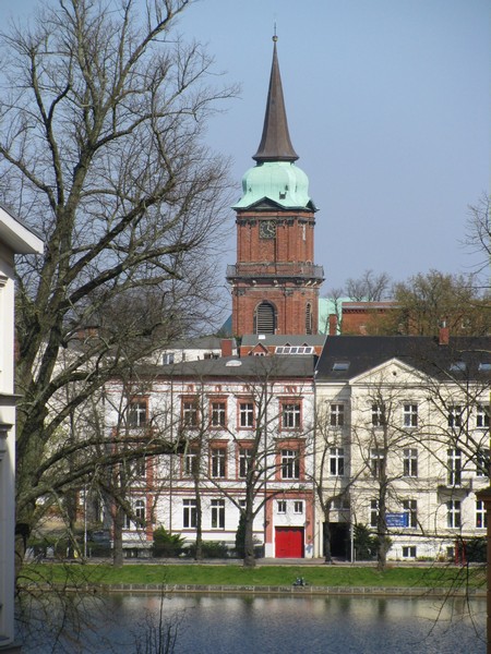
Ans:
<svg viewBox="0 0 491 654"><path fill-rule="evenodd" d="M53 457L67 419L207 316L228 181L201 136L235 89L211 86L211 59L172 33L190 4L155 0L142 16L134 0L59 0L34 27L3 35L3 202L46 244L19 267L23 533L53 484L67 491L88 473L67 472L59 443ZM76 391L60 403L67 386Z"/></svg>

